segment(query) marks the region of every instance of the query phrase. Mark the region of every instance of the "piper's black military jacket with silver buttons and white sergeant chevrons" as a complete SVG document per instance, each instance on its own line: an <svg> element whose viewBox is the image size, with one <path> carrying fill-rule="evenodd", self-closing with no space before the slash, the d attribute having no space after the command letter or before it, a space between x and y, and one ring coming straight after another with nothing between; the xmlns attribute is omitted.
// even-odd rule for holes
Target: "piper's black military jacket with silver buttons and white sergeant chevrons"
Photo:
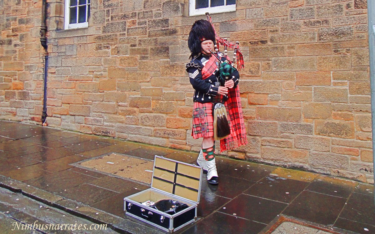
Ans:
<svg viewBox="0 0 375 234"><path fill-rule="evenodd" d="M193 101L198 101L200 103L213 102L213 98L219 95L217 94L220 86L220 80L218 78L219 69L216 69L208 78L202 79L202 68L209 59L210 55L200 54L186 64L186 71L189 73L190 83L194 88ZM224 59L222 58L222 60ZM219 67L219 62L216 62L216 65ZM233 88L236 88L240 78L239 72L235 70L231 75L231 79L234 81Z"/></svg>

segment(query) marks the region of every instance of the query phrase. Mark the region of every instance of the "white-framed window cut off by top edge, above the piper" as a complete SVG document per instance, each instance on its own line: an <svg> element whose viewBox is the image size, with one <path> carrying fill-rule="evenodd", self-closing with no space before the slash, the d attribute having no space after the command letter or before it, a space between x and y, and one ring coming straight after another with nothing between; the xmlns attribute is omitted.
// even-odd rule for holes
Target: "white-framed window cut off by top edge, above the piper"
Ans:
<svg viewBox="0 0 375 234"><path fill-rule="evenodd" d="M189 0L189 15L204 15L236 10L236 0Z"/></svg>

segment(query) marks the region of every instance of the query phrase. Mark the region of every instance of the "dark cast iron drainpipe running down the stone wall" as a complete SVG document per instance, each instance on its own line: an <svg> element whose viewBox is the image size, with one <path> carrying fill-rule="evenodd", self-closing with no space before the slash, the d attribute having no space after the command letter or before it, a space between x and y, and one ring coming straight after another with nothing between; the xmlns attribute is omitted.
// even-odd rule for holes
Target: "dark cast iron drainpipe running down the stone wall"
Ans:
<svg viewBox="0 0 375 234"><path fill-rule="evenodd" d="M48 46L47 46L47 25L46 25L46 7L47 0L42 0L42 25L40 26L40 44L45 49L44 55L44 86L43 86L43 111L42 126L46 125L47 120L47 69L48 69Z"/></svg>

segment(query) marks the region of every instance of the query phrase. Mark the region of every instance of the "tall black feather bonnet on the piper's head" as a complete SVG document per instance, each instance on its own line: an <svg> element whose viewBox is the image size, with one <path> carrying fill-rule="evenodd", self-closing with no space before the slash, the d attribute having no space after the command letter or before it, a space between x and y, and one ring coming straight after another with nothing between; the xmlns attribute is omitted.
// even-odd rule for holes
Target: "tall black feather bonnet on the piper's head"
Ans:
<svg viewBox="0 0 375 234"><path fill-rule="evenodd" d="M190 58L195 57L201 53L201 42L203 40L215 40L215 32L210 22L204 19L199 19L194 22L187 39L191 55Z"/></svg>

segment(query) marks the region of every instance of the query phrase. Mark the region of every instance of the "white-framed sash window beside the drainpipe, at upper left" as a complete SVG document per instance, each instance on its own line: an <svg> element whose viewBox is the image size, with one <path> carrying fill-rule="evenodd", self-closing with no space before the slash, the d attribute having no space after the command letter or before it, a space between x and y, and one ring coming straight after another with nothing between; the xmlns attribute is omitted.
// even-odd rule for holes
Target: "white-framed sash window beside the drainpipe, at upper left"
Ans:
<svg viewBox="0 0 375 234"><path fill-rule="evenodd" d="M89 26L90 0L65 0L65 29Z"/></svg>

